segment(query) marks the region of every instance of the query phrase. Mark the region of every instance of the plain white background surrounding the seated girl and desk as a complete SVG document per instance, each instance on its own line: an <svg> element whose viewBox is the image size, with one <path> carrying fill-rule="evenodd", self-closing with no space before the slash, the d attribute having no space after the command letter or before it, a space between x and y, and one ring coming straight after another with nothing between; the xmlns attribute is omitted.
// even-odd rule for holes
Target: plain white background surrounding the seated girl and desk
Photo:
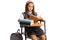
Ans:
<svg viewBox="0 0 60 40"><path fill-rule="evenodd" d="M0 40L10 40L27 0L0 0ZM46 20L47 40L60 40L60 0L32 0L38 16Z"/></svg>

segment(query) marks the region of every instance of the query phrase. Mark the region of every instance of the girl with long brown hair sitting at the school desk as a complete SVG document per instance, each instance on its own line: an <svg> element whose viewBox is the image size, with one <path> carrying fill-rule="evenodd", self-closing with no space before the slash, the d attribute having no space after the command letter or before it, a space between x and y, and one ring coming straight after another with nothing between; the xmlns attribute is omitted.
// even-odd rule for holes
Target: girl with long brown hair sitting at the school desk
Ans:
<svg viewBox="0 0 60 40"><path fill-rule="evenodd" d="M37 13L34 11L34 3L29 1L25 5L25 12L23 12L24 19L29 19L31 15L37 16ZM45 40L44 32L40 27L25 27L25 31L32 40L36 40L37 37L40 40Z"/></svg>

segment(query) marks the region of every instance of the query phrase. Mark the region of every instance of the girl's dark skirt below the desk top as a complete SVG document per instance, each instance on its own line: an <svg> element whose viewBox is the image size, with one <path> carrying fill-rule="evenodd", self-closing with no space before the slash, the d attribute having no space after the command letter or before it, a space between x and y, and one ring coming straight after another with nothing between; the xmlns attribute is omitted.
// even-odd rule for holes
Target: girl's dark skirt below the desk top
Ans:
<svg viewBox="0 0 60 40"><path fill-rule="evenodd" d="M36 35L37 37L39 37L45 34L40 27L25 27L25 32L27 33L28 37L30 37L31 35Z"/></svg>

